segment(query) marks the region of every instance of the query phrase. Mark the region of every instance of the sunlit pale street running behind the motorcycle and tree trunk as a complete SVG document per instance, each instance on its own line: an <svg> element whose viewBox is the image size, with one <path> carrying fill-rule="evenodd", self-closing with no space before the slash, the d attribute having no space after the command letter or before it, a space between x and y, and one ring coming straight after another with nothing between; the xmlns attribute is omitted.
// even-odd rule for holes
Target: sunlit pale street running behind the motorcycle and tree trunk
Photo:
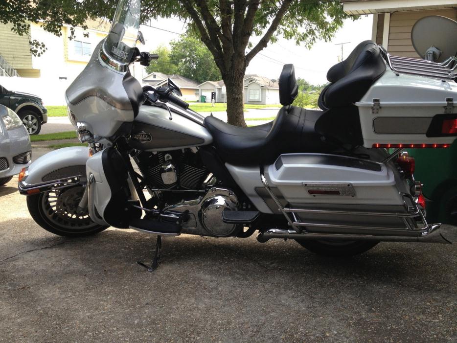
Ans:
<svg viewBox="0 0 457 343"><path fill-rule="evenodd" d="M262 125L271 120L249 120L253 118L265 118L273 117L278 113L279 108L260 108L260 109L249 109L245 113L246 123L248 125ZM204 116L208 116L210 112L202 112ZM218 118L227 121L226 112L214 112L213 115L216 115ZM64 132L64 131L73 131L74 126L71 125L69 118L67 116L59 117L49 117L47 123L44 124L41 128L40 134L50 134L55 132Z"/></svg>

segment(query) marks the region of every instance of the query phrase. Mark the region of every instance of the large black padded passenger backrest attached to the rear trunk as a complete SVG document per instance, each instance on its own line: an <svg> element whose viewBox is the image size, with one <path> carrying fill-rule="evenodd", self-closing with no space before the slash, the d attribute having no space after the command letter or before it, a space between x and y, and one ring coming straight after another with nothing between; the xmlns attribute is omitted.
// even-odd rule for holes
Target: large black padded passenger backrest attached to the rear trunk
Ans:
<svg viewBox="0 0 457 343"><path fill-rule="evenodd" d="M330 84L320 93L322 110L359 101L386 70L386 63L376 43L360 43L342 62L327 72Z"/></svg>

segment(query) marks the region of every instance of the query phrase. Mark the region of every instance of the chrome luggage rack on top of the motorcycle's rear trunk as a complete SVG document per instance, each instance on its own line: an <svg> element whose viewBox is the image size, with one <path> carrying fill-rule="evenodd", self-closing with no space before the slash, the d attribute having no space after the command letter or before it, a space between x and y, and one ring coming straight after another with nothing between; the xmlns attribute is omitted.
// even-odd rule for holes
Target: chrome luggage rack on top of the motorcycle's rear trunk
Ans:
<svg viewBox="0 0 457 343"><path fill-rule="evenodd" d="M379 46L390 69L398 73L439 78L457 79L457 57L451 56L442 63L417 58L391 56L383 46Z"/></svg>

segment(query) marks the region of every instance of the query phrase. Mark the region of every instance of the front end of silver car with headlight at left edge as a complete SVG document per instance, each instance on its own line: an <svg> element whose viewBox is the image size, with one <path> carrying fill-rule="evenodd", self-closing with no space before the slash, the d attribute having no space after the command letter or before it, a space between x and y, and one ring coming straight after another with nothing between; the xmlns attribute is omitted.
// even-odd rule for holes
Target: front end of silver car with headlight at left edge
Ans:
<svg viewBox="0 0 457 343"><path fill-rule="evenodd" d="M30 136L22 120L0 105L0 185L10 181L32 160Z"/></svg>

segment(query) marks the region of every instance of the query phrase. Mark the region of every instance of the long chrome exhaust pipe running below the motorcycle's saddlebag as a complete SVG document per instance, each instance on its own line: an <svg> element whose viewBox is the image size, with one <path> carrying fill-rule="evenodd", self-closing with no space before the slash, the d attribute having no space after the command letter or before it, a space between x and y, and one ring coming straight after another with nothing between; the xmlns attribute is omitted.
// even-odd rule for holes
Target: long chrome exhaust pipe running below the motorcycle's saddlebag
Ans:
<svg viewBox="0 0 457 343"><path fill-rule="evenodd" d="M313 233L303 231L297 233L292 229L268 229L262 231L257 235L257 240L265 243L271 238L290 238L290 239L310 239L310 240L328 240L335 239L340 241L380 241L380 242L416 242L416 243L441 243L452 244L452 241L443 236L440 230L441 224L432 224L427 229L414 231L405 230L402 233L395 235L381 235L370 234L367 229L366 234L352 234L352 233ZM456 233L456 229L447 228L446 231L451 230ZM449 232L452 234L452 232Z"/></svg>

